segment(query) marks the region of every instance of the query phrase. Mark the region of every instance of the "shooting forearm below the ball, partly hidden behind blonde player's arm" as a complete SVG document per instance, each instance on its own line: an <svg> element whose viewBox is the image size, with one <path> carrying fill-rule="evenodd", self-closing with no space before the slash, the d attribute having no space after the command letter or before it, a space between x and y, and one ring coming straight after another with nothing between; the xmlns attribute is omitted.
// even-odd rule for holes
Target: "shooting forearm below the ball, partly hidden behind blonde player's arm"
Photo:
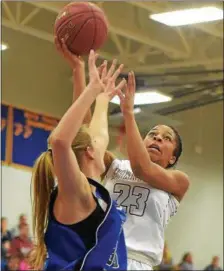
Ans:
<svg viewBox="0 0 224 271"><path fill-rule="evenodd" d="M76 68L72 72L73 74L73 103L78 99L83 90L86 87L85 66ZM88 109L83 123L89 124L92 118L91 108Z"/></svg>

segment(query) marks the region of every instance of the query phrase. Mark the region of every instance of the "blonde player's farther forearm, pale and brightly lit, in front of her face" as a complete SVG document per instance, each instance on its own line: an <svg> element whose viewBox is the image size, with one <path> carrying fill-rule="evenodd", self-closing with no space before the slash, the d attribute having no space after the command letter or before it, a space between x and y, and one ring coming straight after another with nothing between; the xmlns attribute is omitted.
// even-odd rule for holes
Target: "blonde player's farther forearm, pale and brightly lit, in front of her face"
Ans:
<svg viewBox="0 0 224 271"><path fill-rule="evenodd" d="M91 134L93 136L102 137L107 145L109 143L108 106L109 100L99 95L96 99L96 105L90 123Z"/></svg>

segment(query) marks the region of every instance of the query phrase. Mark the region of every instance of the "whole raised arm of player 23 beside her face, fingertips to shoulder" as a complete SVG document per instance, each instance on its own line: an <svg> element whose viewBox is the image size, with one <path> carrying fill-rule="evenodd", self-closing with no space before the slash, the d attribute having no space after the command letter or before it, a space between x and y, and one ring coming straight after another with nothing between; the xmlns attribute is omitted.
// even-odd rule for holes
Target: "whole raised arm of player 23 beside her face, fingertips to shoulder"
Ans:
<svg viewBox="0 0 224 271"><path fill-rule="evenodd" d="M188 177L183 172L166 170L151 161L135 121L134 94L135 77L132 72L129 73L128 85L124 95L120 94L120 100L127 134L128 157L133 173L152 187L172 193L181 200L188 189Z"/></svg>

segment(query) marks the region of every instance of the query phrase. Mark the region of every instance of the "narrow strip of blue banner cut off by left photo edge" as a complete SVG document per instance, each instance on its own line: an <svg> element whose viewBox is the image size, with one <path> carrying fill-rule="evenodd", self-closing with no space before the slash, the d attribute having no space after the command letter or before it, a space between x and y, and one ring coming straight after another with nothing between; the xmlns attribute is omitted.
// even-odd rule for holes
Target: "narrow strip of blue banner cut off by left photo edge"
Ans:
<svg viewBox="0 0 224 271"><path fill-rule="evenodd" d="M1 105L1 160L6 159L6 136L8 123L8 109L7 105Z"/></svg>

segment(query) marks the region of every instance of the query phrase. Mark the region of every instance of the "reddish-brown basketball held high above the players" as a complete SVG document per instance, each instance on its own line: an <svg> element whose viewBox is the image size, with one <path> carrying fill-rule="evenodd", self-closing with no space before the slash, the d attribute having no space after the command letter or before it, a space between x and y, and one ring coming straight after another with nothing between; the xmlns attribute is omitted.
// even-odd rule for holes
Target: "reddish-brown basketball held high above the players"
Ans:
<svg viewBox="0 0 224 271"><path fill-rule="evenodd" d="M72 53L87 55L106 41L108 22L103 10L95 4L74 2L58 14L54 32L59 40L64 39Z"/></svg>

